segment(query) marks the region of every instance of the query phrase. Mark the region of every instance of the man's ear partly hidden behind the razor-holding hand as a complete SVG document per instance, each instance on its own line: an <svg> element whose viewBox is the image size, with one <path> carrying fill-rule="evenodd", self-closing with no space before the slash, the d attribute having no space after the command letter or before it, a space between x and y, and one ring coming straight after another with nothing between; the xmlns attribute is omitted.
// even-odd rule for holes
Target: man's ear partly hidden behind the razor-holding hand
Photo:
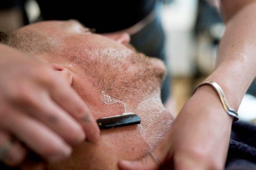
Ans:
<svg viewBox="0 0 256 170"><path fill-rule="evenodd" d="M53 68L60 77L64 78L70 86L72 85L73 73L68 68L58 64L50 64L50 67Z"/></svg>

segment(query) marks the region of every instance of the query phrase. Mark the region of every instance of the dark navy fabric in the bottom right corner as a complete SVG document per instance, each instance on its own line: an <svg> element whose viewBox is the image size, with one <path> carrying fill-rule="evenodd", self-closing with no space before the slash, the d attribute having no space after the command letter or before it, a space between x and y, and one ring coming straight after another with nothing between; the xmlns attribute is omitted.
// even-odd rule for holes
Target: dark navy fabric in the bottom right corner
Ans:
<svg viewBox="0 0 256 170"><path fill-rule="evenodd" d="M234 122L226 170L256 170L256 125Z"/></svg>

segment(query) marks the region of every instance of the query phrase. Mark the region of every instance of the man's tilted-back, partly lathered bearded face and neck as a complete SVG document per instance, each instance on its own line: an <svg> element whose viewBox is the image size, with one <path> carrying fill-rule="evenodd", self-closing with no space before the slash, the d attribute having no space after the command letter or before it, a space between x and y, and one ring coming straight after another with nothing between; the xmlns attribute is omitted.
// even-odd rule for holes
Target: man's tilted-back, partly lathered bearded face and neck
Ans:
<svg viewBox="0 0 256 170"><path fill-rule="evenodd" d="M141 117L140 125L102 130L97 143L84 142L73 155L49 169L117 169L120 159L134 160L152 150L173 117L162 105L163 62L115 40L92 34L74 20L48 21L21 28L46 37L54 50L38 57L72 73L72 87L95 119L122 113Z"/></svg>

